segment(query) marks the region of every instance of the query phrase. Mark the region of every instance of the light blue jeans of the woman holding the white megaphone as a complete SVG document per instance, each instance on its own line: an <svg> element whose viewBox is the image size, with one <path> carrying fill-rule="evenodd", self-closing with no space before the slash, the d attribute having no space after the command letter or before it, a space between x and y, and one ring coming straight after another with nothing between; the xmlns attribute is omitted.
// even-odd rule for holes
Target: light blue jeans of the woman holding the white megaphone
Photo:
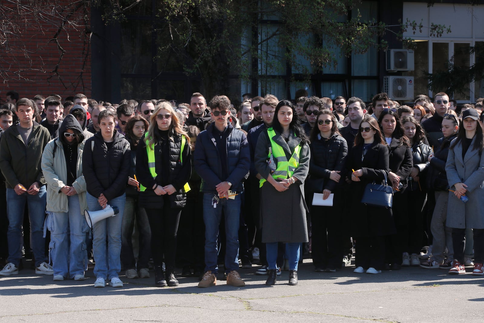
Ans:
<svg viewBox="0 0 484 323"><path fill-rule="evenodd" d="M102 209L97 202L97 198L87 193L87 202L89 211L99 211ZM117 206L119 213L96 222L92 228L92 253L96 265L94 266L94 276L102 277L107 280L118 277L121 271L121 223L124 212L126 195L123 194L107 204ZM107 240L107 246L106 246Z"/></svg>

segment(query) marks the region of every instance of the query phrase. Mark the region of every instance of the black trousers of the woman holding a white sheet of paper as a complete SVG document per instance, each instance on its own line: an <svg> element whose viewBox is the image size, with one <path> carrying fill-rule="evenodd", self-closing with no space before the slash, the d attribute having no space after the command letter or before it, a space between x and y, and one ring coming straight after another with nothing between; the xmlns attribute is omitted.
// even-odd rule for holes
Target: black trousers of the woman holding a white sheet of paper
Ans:
<svg viewBox="0 0 484 323"><path fill-rule="evenodd" d="M334 206L311 207L311 254L316 268L341 267L343 228L336 210Z"/></svg>

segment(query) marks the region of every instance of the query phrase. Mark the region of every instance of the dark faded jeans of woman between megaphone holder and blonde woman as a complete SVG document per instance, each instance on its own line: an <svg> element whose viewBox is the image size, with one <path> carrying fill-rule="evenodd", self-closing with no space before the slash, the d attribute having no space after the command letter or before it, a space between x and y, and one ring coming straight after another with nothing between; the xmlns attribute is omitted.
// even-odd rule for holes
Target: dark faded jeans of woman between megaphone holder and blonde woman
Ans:
<svg viewBox="0 0 484 323"><path fill-rule="evenodd" d="M139 255L136 265L135 255L133 253L133 229L135 220L139 234ZM151 230L148 215L144 208L138 205L138 199L127 196L122 215L121 224L121 262L124 269L141 269L148 268L148 261L151 256Z"/></svg>

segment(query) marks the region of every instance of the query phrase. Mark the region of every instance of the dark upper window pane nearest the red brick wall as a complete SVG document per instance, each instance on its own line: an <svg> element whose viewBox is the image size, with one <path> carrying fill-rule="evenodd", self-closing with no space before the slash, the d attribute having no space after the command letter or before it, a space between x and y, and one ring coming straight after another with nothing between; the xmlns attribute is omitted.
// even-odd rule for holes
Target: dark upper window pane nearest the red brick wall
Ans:
<svg viewBox="0 0 484 323"><path fill-rule="evenodd" d="M121 74L151 74L151 21L121 23Z"/></svg>

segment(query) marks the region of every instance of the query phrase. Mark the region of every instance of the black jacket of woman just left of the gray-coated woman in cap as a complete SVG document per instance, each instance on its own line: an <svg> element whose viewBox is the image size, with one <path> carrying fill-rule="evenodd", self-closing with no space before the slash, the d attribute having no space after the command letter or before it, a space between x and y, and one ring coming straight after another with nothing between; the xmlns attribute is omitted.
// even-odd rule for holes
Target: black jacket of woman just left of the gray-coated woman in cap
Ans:
<svg viewBox="0 0 484 323"><path fill-rule="evenodd" d="M440 138L435 146L434 157L430 159L430 166L427 170L427 188L433 191L447 191L449 183L447 181L447 172L445 164L449 154L451 141L457 138L457 135L449 138Z"/></svg>

